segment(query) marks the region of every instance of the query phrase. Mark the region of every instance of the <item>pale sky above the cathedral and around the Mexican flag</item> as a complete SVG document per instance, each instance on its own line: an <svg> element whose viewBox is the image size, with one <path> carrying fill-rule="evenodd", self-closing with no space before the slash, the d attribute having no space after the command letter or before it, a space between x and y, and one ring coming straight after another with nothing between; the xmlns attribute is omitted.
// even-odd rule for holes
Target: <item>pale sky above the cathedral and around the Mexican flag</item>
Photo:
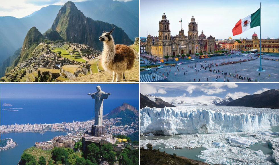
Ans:
<svg viewBox="0 0 279 165"><path fill-rule="evenodd" d="M279 2L278 0L261 1L261 38L278 38L279 36ZM260 8L260 0L140 0L140 36L158 36L159 21L163 12L170 22L171 35L179 34L182 18L184 34L188 31L188 22L194 15L198 22L199 35L202 30L209 37L216 39L252 38L256 32L260 37L260 28L255 27L233 36L232 29L242 18L255 13Z"/></svg>

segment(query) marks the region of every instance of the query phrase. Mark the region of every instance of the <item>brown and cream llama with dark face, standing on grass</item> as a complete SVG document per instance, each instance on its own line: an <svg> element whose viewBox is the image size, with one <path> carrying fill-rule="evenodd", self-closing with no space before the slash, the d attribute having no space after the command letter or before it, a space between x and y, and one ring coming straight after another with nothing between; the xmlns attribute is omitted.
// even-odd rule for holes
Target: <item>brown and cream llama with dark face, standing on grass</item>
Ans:
<svg viewBox="0 0 279 165"><path fill-rule="evenodd" d="M114 28L113 28L114 29ZM100 41L104 43L100 63L105 71L112 73L112 82L126 81L124 72L130 70L134 65L135 53L126 45L114 44L110 32L105 32L100 36Z"/></svg>

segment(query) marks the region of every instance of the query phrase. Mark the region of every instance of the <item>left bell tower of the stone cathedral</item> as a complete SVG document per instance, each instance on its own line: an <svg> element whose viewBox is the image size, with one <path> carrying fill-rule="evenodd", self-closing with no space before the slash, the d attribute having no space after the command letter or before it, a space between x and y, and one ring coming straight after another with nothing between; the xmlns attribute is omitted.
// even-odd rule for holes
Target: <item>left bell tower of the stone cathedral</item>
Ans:
<svg viewBox="0 0 279 165"><path fill-rule="evenodd" d="M162 15L162 20L159 21L159 40L170 40L171 39L171 30L169 30L169 20L167 16Z"/></svg>

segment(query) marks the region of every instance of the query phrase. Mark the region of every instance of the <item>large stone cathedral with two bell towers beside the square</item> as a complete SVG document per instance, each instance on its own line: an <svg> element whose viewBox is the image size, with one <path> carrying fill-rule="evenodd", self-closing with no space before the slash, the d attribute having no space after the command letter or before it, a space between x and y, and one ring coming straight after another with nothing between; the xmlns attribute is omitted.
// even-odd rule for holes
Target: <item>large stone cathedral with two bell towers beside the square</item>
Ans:
<svg viewBox="0 0 279 165"><path fill-rule="evenodd" d="M198 22L195 22L194 16L188 24L187 36L185 36L183 28L178 35L171 36L169 20L167 20L165 12L162 20L159 21L159 36L153 37L149 34L146 40L146 52L159 57L199 53L200 51L211 52L217 49L215 37L206 38L204 32L200 36L198 35Z"/></svg>

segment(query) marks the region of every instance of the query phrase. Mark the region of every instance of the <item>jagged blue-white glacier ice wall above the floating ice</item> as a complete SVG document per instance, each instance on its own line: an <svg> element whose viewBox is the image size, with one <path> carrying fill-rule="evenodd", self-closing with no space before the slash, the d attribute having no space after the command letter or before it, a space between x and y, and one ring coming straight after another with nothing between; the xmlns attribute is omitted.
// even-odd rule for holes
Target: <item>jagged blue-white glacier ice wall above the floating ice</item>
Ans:
<svg viewBox="0 0 279 165"><path fill-rule="evenodd" d="M278 110L267 108L145 107L140 110L140 132L172 135L252 131L278 126L278 118Z"/></svg>

